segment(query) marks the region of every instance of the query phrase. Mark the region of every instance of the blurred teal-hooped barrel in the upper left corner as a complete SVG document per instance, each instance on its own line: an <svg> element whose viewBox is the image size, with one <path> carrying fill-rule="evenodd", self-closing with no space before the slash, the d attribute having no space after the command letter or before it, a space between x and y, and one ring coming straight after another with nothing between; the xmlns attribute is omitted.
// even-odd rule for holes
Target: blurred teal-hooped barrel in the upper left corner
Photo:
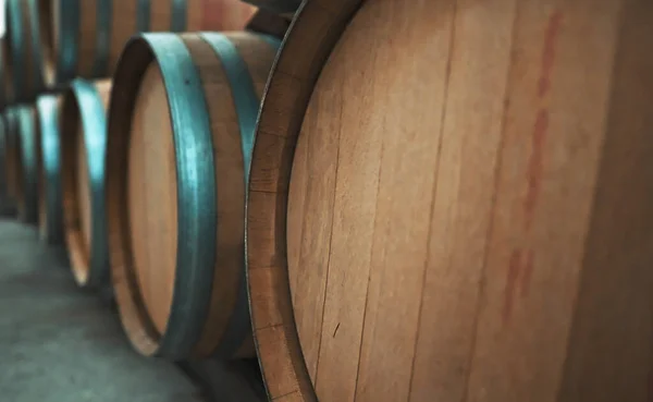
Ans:
<svg viewBox="0 0 653 402"><path fill-rule="evenodd" d="M7 0L5 35L15 101L32 102L45 89L37 0Z"/></svg>

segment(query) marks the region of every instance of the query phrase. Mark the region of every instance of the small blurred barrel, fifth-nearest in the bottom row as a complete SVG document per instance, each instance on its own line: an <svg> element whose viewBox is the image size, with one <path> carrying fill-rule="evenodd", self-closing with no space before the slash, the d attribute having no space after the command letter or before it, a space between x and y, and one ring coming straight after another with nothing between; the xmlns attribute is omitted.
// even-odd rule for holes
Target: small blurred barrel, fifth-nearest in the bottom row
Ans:
<svg viewBox="0 0 653 402"><path fill-rule="evenodd" d="M35 122L35 110L32 106L21 106L15 109L16 130L20 142L19 183L16 208L19 219L25 223L38 222L38 174L40 165L40 142L38 127Z"/></svg>

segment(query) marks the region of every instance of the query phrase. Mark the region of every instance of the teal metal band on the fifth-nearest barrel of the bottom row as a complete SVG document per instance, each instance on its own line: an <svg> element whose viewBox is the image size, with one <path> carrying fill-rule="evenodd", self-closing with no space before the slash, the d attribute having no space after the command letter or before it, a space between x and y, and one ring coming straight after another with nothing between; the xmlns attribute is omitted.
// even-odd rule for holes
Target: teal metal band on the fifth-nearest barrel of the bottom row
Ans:
<svg viewBox="0 0 653 402"><path fill-rule="evenodd" d="M21 137L21 161L23 163L23 195L25 209L22 217L26 223L38 222L38 138L32 107L21 107L19 135Z"/></svg>

